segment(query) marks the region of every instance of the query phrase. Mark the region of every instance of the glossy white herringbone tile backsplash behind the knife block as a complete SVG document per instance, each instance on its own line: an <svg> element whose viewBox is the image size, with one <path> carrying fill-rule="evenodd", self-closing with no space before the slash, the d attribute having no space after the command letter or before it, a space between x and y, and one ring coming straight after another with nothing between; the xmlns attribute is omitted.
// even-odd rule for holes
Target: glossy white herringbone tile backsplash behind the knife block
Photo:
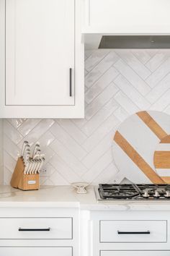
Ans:
<svg viewBox="0 0 170 256"><path fill-rule="evenodd" d="M112 156L119 124L140 110L170 114L170 50L86 51L85 59L85 119L3 121L4 184L24 140L45 152L41 184L121 182Z"/></svg>

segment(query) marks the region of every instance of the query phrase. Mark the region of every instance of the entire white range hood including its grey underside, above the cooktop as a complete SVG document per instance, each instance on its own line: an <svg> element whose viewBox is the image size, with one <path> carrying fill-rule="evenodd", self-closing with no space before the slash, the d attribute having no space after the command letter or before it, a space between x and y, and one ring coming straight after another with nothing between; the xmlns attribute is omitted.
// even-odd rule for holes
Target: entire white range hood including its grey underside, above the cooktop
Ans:
<svg viewBox="0 0 170 256"><path fill-rule="evenodd" d="M86 49L170 48L169 0L84 0ZM101 41L102 40L102 41Z"/></svg>

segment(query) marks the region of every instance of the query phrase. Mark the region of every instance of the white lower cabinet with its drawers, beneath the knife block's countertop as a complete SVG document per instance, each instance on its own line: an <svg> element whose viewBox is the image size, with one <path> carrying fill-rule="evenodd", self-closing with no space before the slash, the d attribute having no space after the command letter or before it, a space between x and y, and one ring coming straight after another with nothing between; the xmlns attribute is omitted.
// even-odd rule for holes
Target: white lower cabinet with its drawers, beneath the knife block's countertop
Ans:
<svg viewBox="0 0 170 256"><path fill-rule="evenodd" d="M79 209L0 208L0 256L79 256Z"/></svg>

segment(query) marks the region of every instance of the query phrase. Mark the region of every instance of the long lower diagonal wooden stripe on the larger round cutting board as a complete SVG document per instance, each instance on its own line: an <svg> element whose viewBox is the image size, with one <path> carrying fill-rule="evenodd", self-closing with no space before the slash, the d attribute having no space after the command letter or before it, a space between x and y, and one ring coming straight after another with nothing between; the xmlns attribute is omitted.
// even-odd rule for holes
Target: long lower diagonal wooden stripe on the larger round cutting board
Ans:
<svg viewBox="0 0 170 256"><path fill-rule="evenodd" d="M122 150L129 156L129 158L135 163L138 168L140 168L141 171L143 171L144 174L148 177L148 179L151 180L151 182L155 184L164 184L163 179L161 179L158 174L156 174L155 171L151 168L151 166L146 163L146 161L138 154L138 152L130 145L130 143L125 140L124 137L120 134L120 132L115 133L114 137L115 142L117 145L122 148Z"/></svg>

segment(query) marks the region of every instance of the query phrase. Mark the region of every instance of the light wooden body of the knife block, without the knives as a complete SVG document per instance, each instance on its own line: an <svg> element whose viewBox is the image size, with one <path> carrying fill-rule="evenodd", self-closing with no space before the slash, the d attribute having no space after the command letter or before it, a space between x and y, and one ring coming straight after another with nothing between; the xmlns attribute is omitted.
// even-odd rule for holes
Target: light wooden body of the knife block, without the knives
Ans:
<svg viewBox="0 0 170 256"><path fill-rule="evenodd" d="M22 190L36 190L40 188L39 174L24 174L24 161L18 158L12 174L11 186Z"/></svg>

